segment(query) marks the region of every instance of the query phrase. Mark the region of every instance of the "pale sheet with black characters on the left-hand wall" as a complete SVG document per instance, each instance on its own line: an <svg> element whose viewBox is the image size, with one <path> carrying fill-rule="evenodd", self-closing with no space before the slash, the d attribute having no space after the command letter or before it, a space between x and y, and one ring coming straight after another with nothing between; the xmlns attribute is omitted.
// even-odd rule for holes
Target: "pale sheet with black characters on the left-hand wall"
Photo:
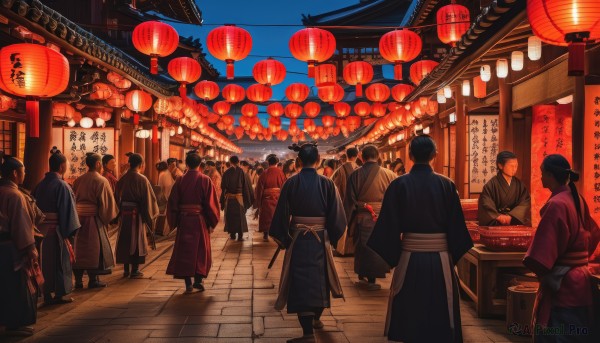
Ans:
<svg viewBox="0 0 600 343"><path fill-rule="evenodd" d="M94 152L100 155L115 153L114 129L65 128L63 130L63 153L69 161L65 179L72 181L87 171L85 154Z"/></svg>

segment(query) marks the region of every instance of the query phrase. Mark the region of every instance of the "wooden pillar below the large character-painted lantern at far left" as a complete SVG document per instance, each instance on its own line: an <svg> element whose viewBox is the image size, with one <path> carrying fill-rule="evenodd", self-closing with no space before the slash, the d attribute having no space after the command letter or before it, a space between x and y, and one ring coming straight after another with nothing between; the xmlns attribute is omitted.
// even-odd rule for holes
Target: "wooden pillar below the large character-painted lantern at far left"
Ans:
<svg viewBox="0 0 600 343"><path fill-rule="evenodd" d="M33 188L48 171L48 158L52 149L52 102L40 101L40 136L25 138L25 181L26 189ZM26 130L29 132L29 129Z"/></svg>

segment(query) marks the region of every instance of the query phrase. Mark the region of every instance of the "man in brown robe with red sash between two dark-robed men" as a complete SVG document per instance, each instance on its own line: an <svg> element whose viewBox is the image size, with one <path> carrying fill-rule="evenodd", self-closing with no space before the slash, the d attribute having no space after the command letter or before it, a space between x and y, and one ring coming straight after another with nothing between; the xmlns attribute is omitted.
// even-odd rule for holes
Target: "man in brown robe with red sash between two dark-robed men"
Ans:
<svg viewBox="0 0 600 343"><path fill-rule="evenodd" d="M362 149L362 167L348 178L344 210L348 219L348 236L355 242L354 272L358 274L357 286L366 286L370 291L381 289L376 278L385 278L388 264L367 246L375 221L381 211L383 195L396 174L377 164L379 152L374 145Z"/></svg>

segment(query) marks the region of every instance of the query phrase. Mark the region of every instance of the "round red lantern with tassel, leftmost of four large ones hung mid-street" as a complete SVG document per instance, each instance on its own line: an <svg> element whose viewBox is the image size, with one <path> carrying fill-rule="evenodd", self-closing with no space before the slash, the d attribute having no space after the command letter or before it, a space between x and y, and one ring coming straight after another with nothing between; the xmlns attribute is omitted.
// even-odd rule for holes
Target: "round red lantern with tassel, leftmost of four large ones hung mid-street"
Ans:
<svg viewBox="0 0 600 343"><path fill-rule="evenodd" d="M158 57L172 54L179 45L177 30L159 21L145 21L133 29L133 46L150 56L150 73L158 74Z"/></svg>

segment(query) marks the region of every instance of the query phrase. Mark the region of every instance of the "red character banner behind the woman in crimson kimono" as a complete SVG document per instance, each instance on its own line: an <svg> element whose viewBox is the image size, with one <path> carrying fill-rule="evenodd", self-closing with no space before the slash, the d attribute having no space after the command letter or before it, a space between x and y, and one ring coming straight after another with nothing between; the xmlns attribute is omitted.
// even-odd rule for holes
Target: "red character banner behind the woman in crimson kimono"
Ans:
<svg viewBox="0 0 600 343"><path fill-rule="evenodd" d="M542 186L540 166L544 157L561 154L571 163L572 116L571 104L537 105L532 107L531 124L531 220L540 221L540 210L550 197Z"/></svg>

